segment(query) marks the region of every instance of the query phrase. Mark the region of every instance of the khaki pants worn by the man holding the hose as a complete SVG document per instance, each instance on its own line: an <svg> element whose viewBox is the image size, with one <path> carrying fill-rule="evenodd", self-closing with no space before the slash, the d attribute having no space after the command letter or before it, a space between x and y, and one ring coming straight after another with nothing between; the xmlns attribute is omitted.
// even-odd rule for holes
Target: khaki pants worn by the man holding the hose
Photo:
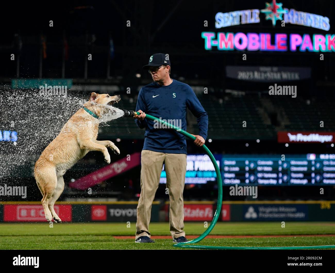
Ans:
<svg viewBox="0 0 335 273"><path fill-rule="evenodd" d="M160 173L165 162L166 188L170 195L170 232L172 238L185 236L183 191L186 175L186 154L160 153L142 150L141 194L137 205L135 240L148 236L152 202L159 186Z"/></svg>

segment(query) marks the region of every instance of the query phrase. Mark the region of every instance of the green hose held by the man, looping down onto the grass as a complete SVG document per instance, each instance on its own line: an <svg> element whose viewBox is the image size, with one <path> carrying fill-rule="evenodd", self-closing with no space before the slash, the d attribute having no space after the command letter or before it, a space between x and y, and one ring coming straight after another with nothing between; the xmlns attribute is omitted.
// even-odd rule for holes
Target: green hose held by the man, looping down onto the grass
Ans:
<svg viewBox="0 0 335 273"><path fill-rule="evenodd" d="M126 111L126 110L124 110L124 111ZM128 111L128 112L129 112L129 114L132 114L132 113L136 113L137 115L141 114L139 112L133 112L133 111ZM126 116L130 116L130 115L126 114ZM155 118L151 115L148 115L148 114L145 114L145 118L147 118L149 120L152 120L152 121L160 122L161 124L165 124L167 126L167 128L173 128L177 132L179 132L179 133L183 134L184 136L188 137L189 139L192 139L192 140L196 139L196 137L194 137L190 133L188 133L188 132L182 130L181 128L176 127L176 126L174 126L170 123L167 123L164 120L157 119L157 118ZM214 228L214 226L215 226L215 224L216 224L216 222L219 218L220 211L221 211L221 206L222 206L222 178L221 178L220 168L217 165L213 154L207 148L207 146L202 145L202 148L204 149L206 154L211 159L211 161L214 165L214 168L215 168L215 172L216 172L217 186L218 186L218 196L217 196L217 206L216 206L216 210L215 210L215 213L214 213L214 218L213 218L210 226L199 237L197 237L197 238L195 238L195 239L193 239L189 242L175 244L175 245L173 245L174 247L194 248L194 249L224 249L224 250L283 250L283 249L285 249L285 250L296 250L296 249L330 249L330 248L335 248L335 245L332 245L332 246L306 246L306 247L217 247L217 246L198 246L198 245L190 246L190 244L200 242L202 239L204 239L212 231L212 229Z"/></svg>

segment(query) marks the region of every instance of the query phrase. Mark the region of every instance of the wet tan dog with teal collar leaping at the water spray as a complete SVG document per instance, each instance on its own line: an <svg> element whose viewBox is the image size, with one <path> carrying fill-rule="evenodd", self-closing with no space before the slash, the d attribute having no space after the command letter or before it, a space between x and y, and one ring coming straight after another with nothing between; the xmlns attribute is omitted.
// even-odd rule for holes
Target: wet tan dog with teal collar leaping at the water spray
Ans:
<svg viewBox="0 0 335 273"><path fill-rule="evenodd" d="M42 205L48 221L61 222L54 210L54 204L64 190L63 175L79 159L89 151L100 151L105 156L105 161L111 163L107 147L120 154L118 147L112 141L98 141L99 120L108 112L104 105L111 105L120 100L120 95L91 93L90 100L79 109L64 125L59 135L45 148L40 158L36 161L34 175L37 186L43 198Z"/></svg>

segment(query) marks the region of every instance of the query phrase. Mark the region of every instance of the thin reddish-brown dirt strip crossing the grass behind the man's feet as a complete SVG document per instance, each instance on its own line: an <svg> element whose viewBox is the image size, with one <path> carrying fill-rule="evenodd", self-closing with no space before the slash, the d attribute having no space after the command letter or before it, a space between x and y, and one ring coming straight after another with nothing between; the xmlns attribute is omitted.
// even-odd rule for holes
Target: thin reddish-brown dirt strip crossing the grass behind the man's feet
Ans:
<svg viewBox="0 0 335 273"><path fill-rule="evenodd" d="M200 235L187 235L188 239L195 239ZM304 235L207 235L206 238L275 238L275 237L331 237L335 234L304 234ZM113 236L115 239L134 239L135 236ZM151 239L170 239L171 236L151 236Z"/></svg>

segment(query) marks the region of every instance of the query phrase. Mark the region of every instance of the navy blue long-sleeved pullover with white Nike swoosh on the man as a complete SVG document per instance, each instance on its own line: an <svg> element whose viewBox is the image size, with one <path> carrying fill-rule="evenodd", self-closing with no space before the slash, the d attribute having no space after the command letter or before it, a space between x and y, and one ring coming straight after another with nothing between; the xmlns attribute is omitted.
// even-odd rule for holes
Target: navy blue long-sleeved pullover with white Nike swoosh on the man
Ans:
<svg viewBox="0 0 335 273"><path fill-rule="evenodd" d="M206 140L208 115L188 84L173 80L167 86L155 82L143 86L138 94L136 111L142 110L186 131L186 107L197 117L199 135ZM159 122L155 124L149 119L135 119L135 122L145 128L143 150L187 154L185 136L173 128L157 128Z"/></svg>

